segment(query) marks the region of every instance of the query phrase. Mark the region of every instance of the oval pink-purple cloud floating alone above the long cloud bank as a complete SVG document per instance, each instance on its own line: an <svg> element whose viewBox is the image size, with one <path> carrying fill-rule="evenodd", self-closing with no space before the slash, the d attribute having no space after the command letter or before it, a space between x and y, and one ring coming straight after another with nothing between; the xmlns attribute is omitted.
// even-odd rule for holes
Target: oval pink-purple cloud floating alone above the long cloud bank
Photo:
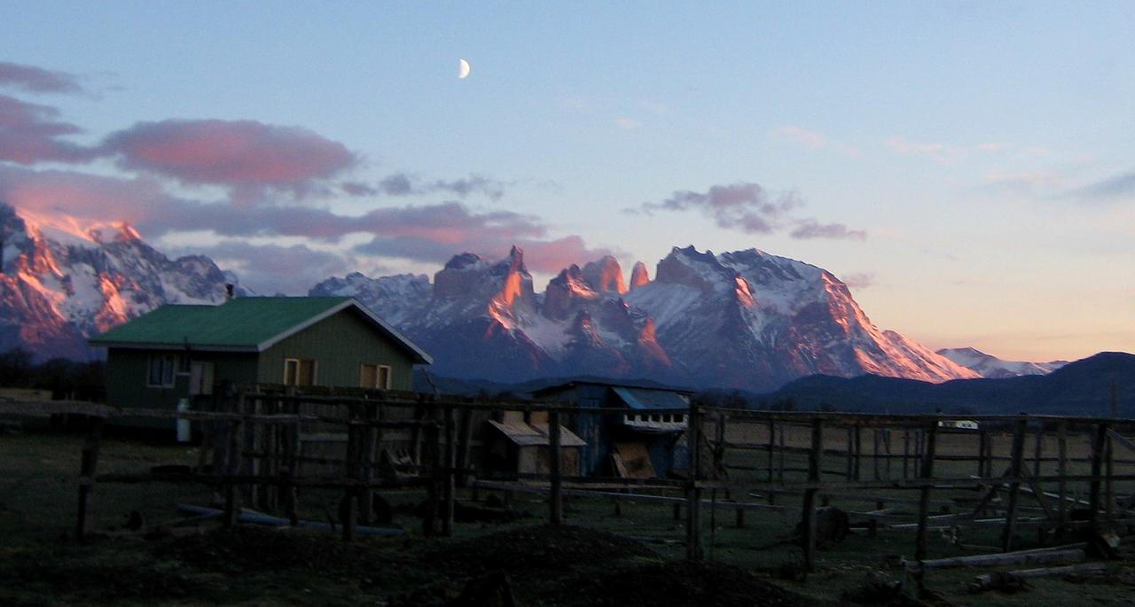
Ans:
<svg viewBox="0 0 1135 607"><path fill-rule="evenodd" d="M112 133L101 151L121 168L190 185L305 191L358 163L342 143L255 120L162 120Z"/></svg>

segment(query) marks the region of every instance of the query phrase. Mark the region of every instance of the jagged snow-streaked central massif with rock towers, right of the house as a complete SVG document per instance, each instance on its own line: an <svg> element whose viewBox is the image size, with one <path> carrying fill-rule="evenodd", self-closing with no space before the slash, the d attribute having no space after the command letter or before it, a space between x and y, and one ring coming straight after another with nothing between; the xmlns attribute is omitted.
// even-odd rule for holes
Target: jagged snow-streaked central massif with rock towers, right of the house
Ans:
<svg viewBox="0 0 1135 607"><path fill-rule="evenodd" d="M353 273L310 294L359 298L440 353L431 372L454 378L586 374L767 390L813 373L980 377L875 327L831 272L756 248L674 247L653 279L638 263L629 283L605 256L565 268L537 293L513 247L495 261L455 255L432 284Z"/></svg>

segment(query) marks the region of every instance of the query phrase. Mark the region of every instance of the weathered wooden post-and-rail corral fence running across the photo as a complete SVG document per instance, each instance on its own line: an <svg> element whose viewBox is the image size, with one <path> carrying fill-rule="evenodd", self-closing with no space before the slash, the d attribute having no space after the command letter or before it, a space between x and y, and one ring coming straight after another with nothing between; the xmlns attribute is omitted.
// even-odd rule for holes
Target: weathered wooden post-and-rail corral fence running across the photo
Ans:
<svg viewBox="0 0 1135 607"><path fill-rule="evenodd" d="M704 520L718 509L799 513L798 542L806 567L816 562L831 498L863 506L852 525L910 532L908 568L920 581L941 563L928 558L932 534L967 529L1000 531L999 548L1014 555L1022 530L1043 541L1078 531L1135 523L1135 420L1051 415L974 415L977 429L941 424L938 415L768 412L691 406L683 440L683 475L583 475L570 453L582 440L572 421L621 411L570 405L477 401L412 393L304 395L263 387L238 391L218 411L119 410L89 403L7 403L0 415L69 413L96 420L116 415L208 422L197 469L177 477L99 474L101 423L83 449L77 531L96 483L199 482L226 498L225 520L242 501L294 514L305 488L342 491L342 533L365 523L371 496L397 487L426 490L432 515L426 533L454 529L455 487L547 496L548 520L563 521L563 499L594 497L674 508L684 516L686 549L705 556ZM676 411L674 412L676 413ZM487 423L489 419L494 423ZM591 424L594 425L594 421ZM502 424L527 427L519 445ZM480 428L480 430L478 430ZM340 435L335 448L304 446L312 436ZM485 466L494 437L530 449L512 470ZM327 442L333 442L328 440ZM488 448L486 448L488 447ZM543 454L543 455L541 455ZM541 464L543 462L543 464ZM501 473L504 472L504 473ZM723 499L718 500L718 494ZM901 506L896 508L896 506ZM897 512L899 511L899 512ZM900 512L908 514L901 514ZM818 513L818 514L817 514ZM714 525L711 525L711 533ZM709 538L713 545L713 538ZM1053 557L1046 555L1043 558ZM1016 556L1007 557L1009 562ZM1022 557L1020 563L1042 557Z"/></svg>

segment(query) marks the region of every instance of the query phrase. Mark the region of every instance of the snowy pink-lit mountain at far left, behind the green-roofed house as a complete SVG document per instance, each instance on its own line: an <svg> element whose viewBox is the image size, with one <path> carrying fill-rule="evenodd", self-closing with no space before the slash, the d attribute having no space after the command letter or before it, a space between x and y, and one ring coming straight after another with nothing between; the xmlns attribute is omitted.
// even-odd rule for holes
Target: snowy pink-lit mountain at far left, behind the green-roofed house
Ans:
<svg viewBox="0 0 1135 607"><path fill-rule="evenodd" d="M0 352L94 357L87 337L161 304L220 303L226 284L236 277L209 258L170 260L126 224L81 226L0 204Z"/></svg>

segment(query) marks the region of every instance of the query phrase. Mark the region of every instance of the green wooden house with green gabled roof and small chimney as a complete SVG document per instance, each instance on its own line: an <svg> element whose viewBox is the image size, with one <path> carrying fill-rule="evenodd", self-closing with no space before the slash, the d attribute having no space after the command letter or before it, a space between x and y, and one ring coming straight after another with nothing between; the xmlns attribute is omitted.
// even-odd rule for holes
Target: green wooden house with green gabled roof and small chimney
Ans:
<svg viewBox="0 0 1135 607"><path fill-rule="evenodd" d="M432 362L352 297L168 304L90 343L107 348L107 402L125 407L175 408L224 381L410 390Z"/></svg>

